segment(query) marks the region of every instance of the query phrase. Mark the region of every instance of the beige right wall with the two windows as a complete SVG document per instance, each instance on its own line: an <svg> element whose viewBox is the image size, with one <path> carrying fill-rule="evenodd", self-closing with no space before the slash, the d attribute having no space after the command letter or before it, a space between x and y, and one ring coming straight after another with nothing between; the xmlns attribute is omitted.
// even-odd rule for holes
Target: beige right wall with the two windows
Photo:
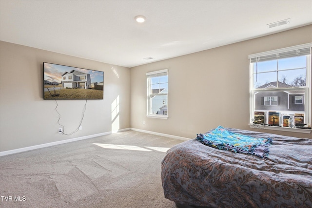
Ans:
<svg viewBox="0 0 312 208"><path fill-rule="evenodd" d="M195 138L249 128L248 55L312 42L312 25L131 68L131 127ZM146 117L146 72L168 69L168 120ZM143 120L145 125L143 125ZM312 134L270 131L312 138Z"/></svg>

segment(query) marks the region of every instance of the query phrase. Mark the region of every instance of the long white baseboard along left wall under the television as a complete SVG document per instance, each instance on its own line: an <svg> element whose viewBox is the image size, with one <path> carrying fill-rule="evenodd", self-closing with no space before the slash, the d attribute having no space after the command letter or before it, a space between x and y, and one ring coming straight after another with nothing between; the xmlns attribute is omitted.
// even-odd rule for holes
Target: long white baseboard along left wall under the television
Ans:
<svg viewBox="0 0 312 208"><path fill-rule="evenodd" d="M57 142L50 142L50 143L45 143L45 144L41 144L41 145L35 145L35 146L30 146L30 147L19 148L19 149L15 149L15 150L0 151L0 156L4 156L4 155L8 155L8 154L14 154L14 153L19 153L19 152L23 152L23 151L36 150L36 149L39 149L39 148L50 147L50 146L59 145L59 144L65 144L65 143L69 143L69 142L75 142L75 141L79 141L79 140L82 140L82 139L90 139L90 138L94 138L94 137L97 137L97 136L104 136L104 135L108 135L108 134L111 134L111 133L123 132L123 131L127 131L127 130L131 130L131 128L120 129L120 130L112 131L112 132L97 133L97 134L92 134L92 135L88 135L88 136L81 136L81 137L61 140L61 141L57 141Z"/></svg>

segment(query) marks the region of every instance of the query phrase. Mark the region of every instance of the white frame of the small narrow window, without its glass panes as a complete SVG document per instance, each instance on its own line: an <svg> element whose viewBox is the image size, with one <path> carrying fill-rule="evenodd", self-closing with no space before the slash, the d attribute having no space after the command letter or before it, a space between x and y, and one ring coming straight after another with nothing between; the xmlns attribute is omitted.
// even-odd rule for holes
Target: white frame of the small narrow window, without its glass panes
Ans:
<svg viewBox="0 0 312 208"><path fill-rule="evenodd" d="M168 92L167 93L158 93L158 94L152 94L151 92L151 77L155 77L161 74L167 74L168 76L168 69L163 69L163 70L158 70L154 72L148 72L146 73L146 82L147 82L147 117L150 118L161 118L161 119L168 119ZM168 83L169 83L169 76L168 76ZM167 84L168 84L167 83ZM168 87L167 87L168 91ZM157 96L157 95L166 95L167 96L167 111L165 111L165 114L153 114L152 112L152 96Z"/></svg>

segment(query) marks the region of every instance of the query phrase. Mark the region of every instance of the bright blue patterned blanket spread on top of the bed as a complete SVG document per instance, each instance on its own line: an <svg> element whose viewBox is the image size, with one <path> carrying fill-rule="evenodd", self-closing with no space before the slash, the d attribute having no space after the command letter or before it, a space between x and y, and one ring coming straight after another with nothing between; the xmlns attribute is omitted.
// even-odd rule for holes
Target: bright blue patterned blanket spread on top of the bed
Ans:
<svg viewBox="0 0 312 208"><path fill-rule="evenodd" d="M272 144L271 138L254 138L237 134L222 126L209 133L197 134L196 139L204 145L219 150L253 154L265 159L269 156L269 146Z"/></svg>

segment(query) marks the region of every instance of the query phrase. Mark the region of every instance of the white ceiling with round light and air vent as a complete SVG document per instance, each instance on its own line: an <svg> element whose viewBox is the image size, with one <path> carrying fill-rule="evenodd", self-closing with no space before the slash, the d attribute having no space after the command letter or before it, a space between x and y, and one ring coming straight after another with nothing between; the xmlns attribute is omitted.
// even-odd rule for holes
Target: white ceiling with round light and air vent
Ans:
<svg viewBox="0 0 312 208"><path fill-rule="evenodd" d="M125 67L308 24L312 0L0 0L0 40Z"/></svg>

